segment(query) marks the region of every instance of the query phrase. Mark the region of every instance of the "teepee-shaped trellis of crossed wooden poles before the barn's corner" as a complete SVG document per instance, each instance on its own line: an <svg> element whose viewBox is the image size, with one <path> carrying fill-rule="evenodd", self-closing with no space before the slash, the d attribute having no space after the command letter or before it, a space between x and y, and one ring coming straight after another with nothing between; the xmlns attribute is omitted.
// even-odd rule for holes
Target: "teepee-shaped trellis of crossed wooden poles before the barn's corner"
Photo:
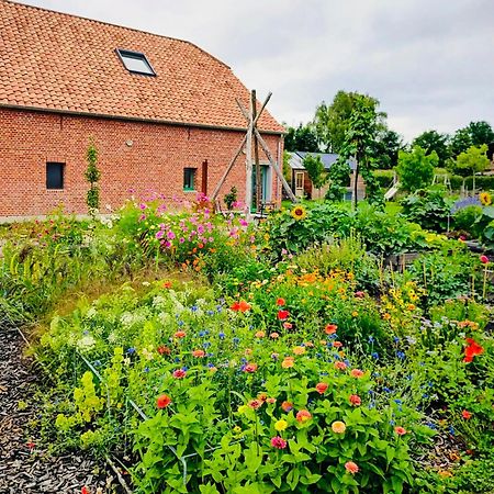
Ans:
<svg viewBox="0 0 494 494"><path fill-rule="evenodd" d="M226 178L228 177L228 173L232 171L232 168L234 167L236 160L240 156L244 147L246 148L246 194L245 194L245 202L246 202L246 215L247 217L250 217L250 205L252 202L252 169L254 165L256 166L256 209L257 211L260 210L261 203L262 203L262 188L261 188L261 171L260 171L260 164L259 164L259 145L262 148L262 150L266 154L266 157L269 160L270 167L274 170L278 178L280 179L283 189L287 192L287 195L290 198L292 202L296 202L296 198L294 193L292 192L290 186L288 184L287 180L283 177L283 173L280 170L280 167L278 166L277 161L272 157L271 151L269 150L268 145L266 144L265 139L262 138L260 132L257 128L257 123L262 115L262 112L268 104L269 100L271 99L271 93L269 93L262 103L261 108L259 109L259 112L257 112L256 108L256 91L250 92L250 104L249 104L249 111L245 109L245 106L242 104L242 102L236 99L237 105L240 109L240 112L245 116L247 121L247 133L244 136L240 145L238 146L237 151L235 153L234 157L229 161L228 166L226 167L222 178L217 182L216 187L214 188L212 200L215 201L217 198L217 194L220 193L220 189L222 188L223 183L225 182ZM254 153L252 153L254 150Z"/></svg>

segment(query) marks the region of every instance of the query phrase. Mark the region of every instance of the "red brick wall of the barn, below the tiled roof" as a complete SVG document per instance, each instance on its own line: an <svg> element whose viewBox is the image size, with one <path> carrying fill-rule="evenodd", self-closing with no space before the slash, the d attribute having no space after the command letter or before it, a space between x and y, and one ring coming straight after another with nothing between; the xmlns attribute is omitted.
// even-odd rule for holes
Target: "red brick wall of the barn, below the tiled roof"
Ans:
<svg viewBox="0 0 494 494"><path fill-rule="evenodd" d="M234 156L244 134L165 124L60 115L0 109L0 216L41 215L64 204L68 213L86 213L88 183L86 150L92 137L99 150L101 210L113 209L148 191L167 198L194 199L183 192L183 168L197 168L201 190L202 162L207 159L211 194ZM277 159L280 136L265 136ZM132 141L132 146L127 142ZM261 160L267 161L263 153ZM46 190L46 162L65 162L65 188ZM281 159L280 159L281 161ZM245 198L245 155L240 155L220 198L236 186ZM281 199L273 173L272 199Z"/></svg>

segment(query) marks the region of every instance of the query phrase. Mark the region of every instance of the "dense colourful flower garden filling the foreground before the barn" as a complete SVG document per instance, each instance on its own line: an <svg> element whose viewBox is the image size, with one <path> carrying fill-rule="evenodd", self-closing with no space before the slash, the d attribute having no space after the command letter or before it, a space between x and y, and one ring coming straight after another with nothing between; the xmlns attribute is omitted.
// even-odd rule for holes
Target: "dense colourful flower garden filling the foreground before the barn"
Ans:
<svg viewBox="0 0 494 494"><path fill-rule="evenodd" d="M136 493L493 492L490 201L2 227L3 324L54 382L33 434Z"/></svg>

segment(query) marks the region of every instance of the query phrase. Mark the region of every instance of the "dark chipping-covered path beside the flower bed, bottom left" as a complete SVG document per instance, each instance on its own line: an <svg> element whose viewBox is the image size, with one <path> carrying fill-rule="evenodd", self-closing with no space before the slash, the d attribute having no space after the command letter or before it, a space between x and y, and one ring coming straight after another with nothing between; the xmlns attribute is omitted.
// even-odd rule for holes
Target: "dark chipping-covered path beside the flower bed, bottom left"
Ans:
<svg viewBox="0 0 494 494"><path fill-rule="evenodd" d="M104 464L85 453L47 456L36 433L27 436L30 420L40 413L33 396L41 372L23 348L18 330L0 328L0 494L80 494L85 485L90 494L115 492L114 474ZM20 409L20 402L27 407Z"/></svg>

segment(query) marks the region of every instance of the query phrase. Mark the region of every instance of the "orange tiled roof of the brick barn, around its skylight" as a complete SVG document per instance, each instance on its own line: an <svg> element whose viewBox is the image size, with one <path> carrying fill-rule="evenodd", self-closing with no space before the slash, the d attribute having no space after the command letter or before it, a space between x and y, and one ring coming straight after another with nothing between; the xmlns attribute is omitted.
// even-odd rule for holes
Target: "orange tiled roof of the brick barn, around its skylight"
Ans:
<svg viewBox="0 0 494 494"><path fill-rule="evenodd" d="M128 72L116 48L157 76ZM245 128L235 98L249 92L192 43L0 0L0 106ZM266 110L259 128L283 132Z"/></svg>

